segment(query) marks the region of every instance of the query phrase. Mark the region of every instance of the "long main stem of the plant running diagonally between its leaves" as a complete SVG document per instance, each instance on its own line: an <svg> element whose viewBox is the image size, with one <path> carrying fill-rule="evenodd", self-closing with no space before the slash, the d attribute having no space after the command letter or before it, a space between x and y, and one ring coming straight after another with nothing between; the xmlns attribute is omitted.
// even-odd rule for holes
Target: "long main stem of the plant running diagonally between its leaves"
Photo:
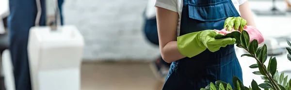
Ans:
<svg viewBox="0 0 291 90"><path fill-rule="evenodd" d="M249 54L251 54L249 52L249 50L247 48L243 48L245 49ZM275 85L276 90L281 90L280 87L277 85L277 83L275 82L275 80L273 79L272 75L270 75L270 73L267 71L267 69L264 67L264 64L262 62L259 61L259 59L256 57L256 55L251 54L253 56L253 58L255 58L257 60L257 62L262 66L262 69L264 70L264 72L266 73L266 76L270 79L271 83Z"/></svg>

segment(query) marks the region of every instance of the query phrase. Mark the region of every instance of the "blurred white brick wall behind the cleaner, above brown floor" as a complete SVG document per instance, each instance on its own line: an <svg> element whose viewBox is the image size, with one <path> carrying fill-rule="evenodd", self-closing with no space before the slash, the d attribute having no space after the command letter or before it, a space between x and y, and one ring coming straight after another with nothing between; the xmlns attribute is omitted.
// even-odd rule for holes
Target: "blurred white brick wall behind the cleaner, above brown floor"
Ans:
<svg viewBox="0 0 291 90"><path fill-rule="evenodd" d="M147 0L65 0L65 24L85 38L84 60L154 59L157 46L142 32Z"/></svg>

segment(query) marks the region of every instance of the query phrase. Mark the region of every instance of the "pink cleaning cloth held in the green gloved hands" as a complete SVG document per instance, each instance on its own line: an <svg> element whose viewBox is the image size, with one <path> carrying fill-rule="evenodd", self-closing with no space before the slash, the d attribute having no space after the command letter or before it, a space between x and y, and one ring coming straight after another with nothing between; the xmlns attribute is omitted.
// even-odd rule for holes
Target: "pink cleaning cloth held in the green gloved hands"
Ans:
<svg viewBox="0 0 291 90"><path fill-rule="evenodd" d="M258 41L258 44L261 44L265 41L263 35L259 32L257 28L252 27L252 26L244 26L243 30L245 30L249 34L250 42L252 42L254 39ZM231 31L227 31L226 29L222 29L222 30L215 30L215 31L226 35L227 33L231 33L232 31L239 31L239 30L232 29Z"/></svg>

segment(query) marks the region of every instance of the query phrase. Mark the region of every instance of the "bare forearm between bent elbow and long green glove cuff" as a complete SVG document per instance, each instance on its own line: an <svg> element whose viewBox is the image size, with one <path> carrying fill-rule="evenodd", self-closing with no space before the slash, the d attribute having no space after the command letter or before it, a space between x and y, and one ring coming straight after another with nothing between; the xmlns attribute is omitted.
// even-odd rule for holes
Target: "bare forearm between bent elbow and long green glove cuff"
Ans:
<svg viewBox="0 0 291 90"><path fill-rule="evenodd" d="M185 58L178 50L177 41L171 41L167 43L164 47L161 47L161 53L163 60L170 63L176 60Z"/></svg>

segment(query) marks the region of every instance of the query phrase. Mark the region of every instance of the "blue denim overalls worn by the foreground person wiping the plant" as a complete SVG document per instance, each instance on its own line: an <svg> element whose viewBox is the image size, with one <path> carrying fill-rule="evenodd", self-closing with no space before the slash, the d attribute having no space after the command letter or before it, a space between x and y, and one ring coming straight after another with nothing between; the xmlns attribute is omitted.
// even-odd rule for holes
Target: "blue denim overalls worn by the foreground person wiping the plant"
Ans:
<svg viewBox="0 0 291 90"><path fill-rule="evenodd" d="M227 17L240 16L231 0L184 0L183 3L180 36L221 30ZM227 45L216 52L207 49L193 58L172 62L162 90L200 90L217 80L232 85L233 76L242 80L242 69L234 45Z"/></svg>

